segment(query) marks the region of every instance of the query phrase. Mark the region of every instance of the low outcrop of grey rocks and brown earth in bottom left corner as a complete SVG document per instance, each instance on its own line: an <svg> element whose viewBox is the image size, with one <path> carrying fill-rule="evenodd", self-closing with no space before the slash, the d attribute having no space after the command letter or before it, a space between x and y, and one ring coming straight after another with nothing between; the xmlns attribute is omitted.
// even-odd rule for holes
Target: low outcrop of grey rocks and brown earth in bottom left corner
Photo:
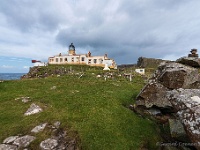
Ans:
<svg viewBox="0 0 200 150"><path fill-rule="evenodd" d="M39 132L45 129L49 137L40 141L39 145L32 145L35 149L41 150L79 150L79 137L77 133L72 131L63 130L60 128L60 122L56 121L53 125L44 123L34 127L31 130L31 135L25 136L10 136L0 144L0 150L21 150L29 149L31 143L37 139ZM70 134L69 134L70 133ZM73 136L71 136L73 135ZM33 143L32 143L33 144Z"/></svg>

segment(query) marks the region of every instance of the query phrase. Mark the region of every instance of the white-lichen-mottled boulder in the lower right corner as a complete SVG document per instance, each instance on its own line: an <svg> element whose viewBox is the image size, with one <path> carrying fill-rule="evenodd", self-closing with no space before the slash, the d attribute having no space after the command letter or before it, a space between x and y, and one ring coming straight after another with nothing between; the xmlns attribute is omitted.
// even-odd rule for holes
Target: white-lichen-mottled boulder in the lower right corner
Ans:
<svg viewBox="0 0 200 150"><path fill-rule="evenodd" d="M167 97L193 146L200 150L200 89L172 90L168 92Z"/></svg>

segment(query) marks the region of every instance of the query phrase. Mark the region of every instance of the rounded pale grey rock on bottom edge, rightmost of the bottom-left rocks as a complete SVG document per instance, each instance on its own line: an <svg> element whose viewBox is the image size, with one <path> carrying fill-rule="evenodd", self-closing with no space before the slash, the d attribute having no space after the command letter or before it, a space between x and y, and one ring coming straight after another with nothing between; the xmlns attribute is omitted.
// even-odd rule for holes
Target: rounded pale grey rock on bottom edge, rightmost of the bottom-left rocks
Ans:
<svg viewBox="0 0 200 150"><path fill-rule="evenodd" d="M40 143L40 148L42 150L52 150L58 146L58 141L56 139L46 139Z"/></svg>

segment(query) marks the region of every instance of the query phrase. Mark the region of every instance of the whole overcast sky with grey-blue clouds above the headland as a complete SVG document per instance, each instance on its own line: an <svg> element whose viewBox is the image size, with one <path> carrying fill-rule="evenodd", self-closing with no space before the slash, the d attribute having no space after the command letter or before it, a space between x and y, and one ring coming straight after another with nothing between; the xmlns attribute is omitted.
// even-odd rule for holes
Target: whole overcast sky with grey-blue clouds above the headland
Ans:
<svg viewBox="0 0 200 150"><path fill-rule="evenodd" d="M0 72L26 73L31 60L108 54L176 60L200 48L200 0L0 0Z"/></svg>

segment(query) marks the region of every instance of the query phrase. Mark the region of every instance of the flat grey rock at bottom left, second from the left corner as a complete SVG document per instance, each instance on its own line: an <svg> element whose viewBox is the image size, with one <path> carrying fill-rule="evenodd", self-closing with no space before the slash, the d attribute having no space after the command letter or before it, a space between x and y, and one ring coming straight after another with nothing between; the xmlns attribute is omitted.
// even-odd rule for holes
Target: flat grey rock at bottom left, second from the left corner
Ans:
<svg viewBox="0 0 200 150"><path fill-rule="evenodd" d="M17 138L13 144L17 145L18 147L27 147L35 139L36 138L34 136L25 135Z"/></svg>

